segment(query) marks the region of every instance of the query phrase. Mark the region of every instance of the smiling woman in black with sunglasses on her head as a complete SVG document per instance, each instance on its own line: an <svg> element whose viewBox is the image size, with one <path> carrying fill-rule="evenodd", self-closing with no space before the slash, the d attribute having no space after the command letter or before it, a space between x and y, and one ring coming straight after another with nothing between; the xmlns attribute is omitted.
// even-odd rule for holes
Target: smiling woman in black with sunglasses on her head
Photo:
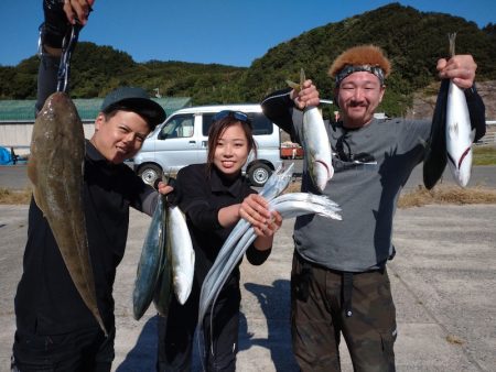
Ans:
<svg viewBox="0 0 496 372"><path fill-rule="evenodd" d="M250 151L256 151L256 143L247 116L220 111L208 133L207 163L186 166L177 174L174 188L196 254L195 281L184 306L174 297L168 317L159 322L159 371L191 370L202 283L240 218L248 220L258 236L246 253L248 261L260 265L270 254L273 233L282 219L279 214L269 212L267 201L249 187L241 174ZM213 314L207 313L203 324L208 342L205 346L207 371L236 369L240 299L238 266L224 285Z"/></svg>

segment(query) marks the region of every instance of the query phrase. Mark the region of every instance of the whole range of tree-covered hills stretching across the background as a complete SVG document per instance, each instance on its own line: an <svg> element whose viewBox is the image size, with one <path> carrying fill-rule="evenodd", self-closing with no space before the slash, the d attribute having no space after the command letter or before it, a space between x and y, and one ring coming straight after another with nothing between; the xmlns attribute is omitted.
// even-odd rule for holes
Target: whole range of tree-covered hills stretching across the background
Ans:
<svg viewBox="0 0 496 372"><path fill-rule="evenodd" d="M310 30L270 48L249 68L218 64L150 61L136 63L110 46L79 43L72 62L72 96L103 97L120 85L142 86L162 96L187 96L195 105L259 101L265 95L299 79L300 68L315 81L321 97L332 98L327 76L332 61L345 48L376 44L392 63L381 107L405 114L412 95L436 79L435 63L448 56L448 33L457 33L456 53L477 62L477 79L496 79L496 25L483 30L473 22L444 13L420 12L391 3L341 22ZM0 98L34 98L36 56L15 67L0 66ZM334 109L334 108L331 108Z"/></svg>

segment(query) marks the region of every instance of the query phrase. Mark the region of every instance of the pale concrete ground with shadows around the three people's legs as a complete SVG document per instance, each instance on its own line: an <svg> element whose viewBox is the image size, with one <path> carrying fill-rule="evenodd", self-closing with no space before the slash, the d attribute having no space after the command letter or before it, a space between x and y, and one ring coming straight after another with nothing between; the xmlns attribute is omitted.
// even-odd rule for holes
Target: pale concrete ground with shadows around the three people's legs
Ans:
<svg viewBox="0 0 496 372"><path fill-rule="evenodd" d="M389 275L398 313L398 371L496 371L496 206L399 210ZM152 371L157 318L131 315L131 292L149 217L133 211L118 269L115 371ZM338 223L338 222L336 222ZM292 221L262 266L242 264L239 371L296 371L289 330ZM13 294L22 271L26 206L0 206L0 372L9 371ZM344 371L352 371L342 344ZM197 365L197 363L196 363Z"/></svg>

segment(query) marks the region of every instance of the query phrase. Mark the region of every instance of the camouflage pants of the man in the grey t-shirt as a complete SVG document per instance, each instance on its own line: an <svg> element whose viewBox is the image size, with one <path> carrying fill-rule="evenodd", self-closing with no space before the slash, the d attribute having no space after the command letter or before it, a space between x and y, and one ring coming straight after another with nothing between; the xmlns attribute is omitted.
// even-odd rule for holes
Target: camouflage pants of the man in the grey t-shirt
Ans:
<svg viewBox="0 0 496 372"><path fill-rule="evenodd" d="M395 371L396 309L385 270L353 274L351 309L343 302L343 273L303 263L291 273L291 335L302 371L341 371L341 333L355 371Z"/></svg>

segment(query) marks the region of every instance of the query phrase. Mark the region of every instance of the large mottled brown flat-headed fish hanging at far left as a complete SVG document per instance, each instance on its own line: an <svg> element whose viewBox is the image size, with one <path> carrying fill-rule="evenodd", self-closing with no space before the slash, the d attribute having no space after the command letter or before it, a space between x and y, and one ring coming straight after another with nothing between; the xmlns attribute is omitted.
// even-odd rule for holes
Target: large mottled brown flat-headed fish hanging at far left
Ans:
<svg viewBox="0 0 496 372"><path fill-rule="evenodd" d="M55 92L46 99L34 122L28 176L71 278L107 335L97 306L86 233L84 160L85 136L76 107L65 92Z"/></svg>

